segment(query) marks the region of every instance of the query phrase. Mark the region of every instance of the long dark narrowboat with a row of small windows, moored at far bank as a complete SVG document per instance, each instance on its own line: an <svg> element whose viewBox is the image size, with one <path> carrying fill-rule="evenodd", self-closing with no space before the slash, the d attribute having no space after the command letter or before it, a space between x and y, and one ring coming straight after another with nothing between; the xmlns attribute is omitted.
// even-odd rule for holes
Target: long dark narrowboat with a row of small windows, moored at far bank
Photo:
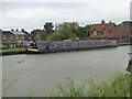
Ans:
<svg viewBox="0 0 132 99"><path fill-rule="evenodd" d="M68 52L68 51L85 51L91 48L102 47L118 47L117 41L109 40L89 40L89 41L59 41L59 42L47 42L47 41L35 41L30 44L26 48L28 54L31 53L56 53L56 52Z"/></svg>

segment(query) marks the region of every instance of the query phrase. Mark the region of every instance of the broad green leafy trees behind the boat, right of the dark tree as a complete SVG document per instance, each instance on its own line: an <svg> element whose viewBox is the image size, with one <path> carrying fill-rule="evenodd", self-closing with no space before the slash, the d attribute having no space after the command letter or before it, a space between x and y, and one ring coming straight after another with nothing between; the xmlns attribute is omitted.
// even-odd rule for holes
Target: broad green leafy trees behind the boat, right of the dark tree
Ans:
<svg viewBox="0 0 132 99"><path fill-rule="evenodd" d="M57 25L54 33L47 34L46 40L87 40L89 28L90 25L79 26L77 22L64 22Z"/></svg>

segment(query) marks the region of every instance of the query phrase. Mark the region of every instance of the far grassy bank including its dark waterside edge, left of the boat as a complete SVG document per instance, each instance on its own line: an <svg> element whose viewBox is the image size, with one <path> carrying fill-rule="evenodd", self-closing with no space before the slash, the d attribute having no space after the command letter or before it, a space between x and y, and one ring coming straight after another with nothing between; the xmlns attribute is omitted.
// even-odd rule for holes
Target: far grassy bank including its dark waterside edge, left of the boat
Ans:
<svg viewBox="0 0 132 99"><path fill-rule="evenodd" d="M0 50L0 55L19 54L21 52L25 52L25 47L14 47L14 48L8 48L8 50Z"/></svg>

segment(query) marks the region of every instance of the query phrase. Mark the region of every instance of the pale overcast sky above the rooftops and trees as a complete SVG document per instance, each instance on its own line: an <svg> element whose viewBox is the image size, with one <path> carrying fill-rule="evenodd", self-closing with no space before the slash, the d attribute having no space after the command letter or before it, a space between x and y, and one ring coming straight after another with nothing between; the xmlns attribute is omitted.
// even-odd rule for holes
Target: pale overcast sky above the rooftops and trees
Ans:
<svg viewBox="0 0 132 99"><path fill-rule="evenodd" d="M0 0L2 30L43 29L45 22L80 25L130 20L131 0Z"/></svg>

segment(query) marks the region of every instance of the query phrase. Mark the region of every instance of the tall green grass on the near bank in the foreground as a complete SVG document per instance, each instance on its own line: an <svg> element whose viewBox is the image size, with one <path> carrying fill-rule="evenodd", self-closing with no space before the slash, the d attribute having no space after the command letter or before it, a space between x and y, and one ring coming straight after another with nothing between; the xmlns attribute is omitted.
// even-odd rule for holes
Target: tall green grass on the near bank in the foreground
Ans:
<svg viewBox="0 0 132 99"><path fill-rule="evenodd" d="M57 86L57 92L51 97L130 97L130 75L118 73L109 81L97 82L91 78L89 85L78 88L72 80L67 87Z"/></svg>

